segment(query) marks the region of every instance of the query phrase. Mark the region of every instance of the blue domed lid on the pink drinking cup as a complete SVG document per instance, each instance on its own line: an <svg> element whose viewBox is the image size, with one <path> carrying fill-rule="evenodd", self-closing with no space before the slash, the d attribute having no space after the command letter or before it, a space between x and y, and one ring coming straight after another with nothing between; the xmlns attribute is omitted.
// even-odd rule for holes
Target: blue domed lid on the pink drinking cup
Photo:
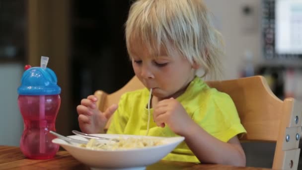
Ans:
<svg viewBox="0 0 302 170"><path fill-rule="evenodd" d="M21 78L18 94L21 95L55 95L61 93L57 85L57 76L49 68L32 67Z"/></svg>

